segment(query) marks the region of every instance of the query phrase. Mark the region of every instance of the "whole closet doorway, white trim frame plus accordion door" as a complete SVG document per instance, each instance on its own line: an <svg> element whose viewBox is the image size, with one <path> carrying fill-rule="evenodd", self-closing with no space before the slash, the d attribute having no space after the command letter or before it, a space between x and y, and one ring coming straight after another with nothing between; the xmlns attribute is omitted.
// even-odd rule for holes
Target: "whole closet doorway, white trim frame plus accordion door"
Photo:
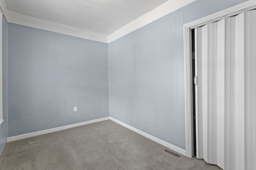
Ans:
<svg viewBox="0 0 256 170"><path fill-rule="evenodd" d="M255 7L248 0L184 24L186 156L223 169L256 169Z"/></svg>

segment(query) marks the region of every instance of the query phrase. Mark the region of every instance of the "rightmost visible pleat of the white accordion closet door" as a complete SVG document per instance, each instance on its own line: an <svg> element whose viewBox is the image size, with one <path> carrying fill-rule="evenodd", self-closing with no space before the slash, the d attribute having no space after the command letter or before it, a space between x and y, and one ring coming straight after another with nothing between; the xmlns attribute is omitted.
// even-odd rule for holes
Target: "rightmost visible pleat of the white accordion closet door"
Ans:
<svg viewBox="0 0 256 170"><path fill-rule="evenodd" d="M256 10L245 12L245 169L256 170ZM228 145L228 143L226 144ZM236 152L239 154L239 152ZM238 168L236 168L238 170Z"/></svg>

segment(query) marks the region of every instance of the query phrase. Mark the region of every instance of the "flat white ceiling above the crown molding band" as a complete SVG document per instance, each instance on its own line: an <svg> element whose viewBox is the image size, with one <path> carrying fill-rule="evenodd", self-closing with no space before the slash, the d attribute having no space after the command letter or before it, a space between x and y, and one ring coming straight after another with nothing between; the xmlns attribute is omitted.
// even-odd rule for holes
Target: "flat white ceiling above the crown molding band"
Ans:
<svg viewBox="0 0 256 170"><path fill-rule="evenodd" d="M4 0L7 10L110 35L168 0Z"/></svg>

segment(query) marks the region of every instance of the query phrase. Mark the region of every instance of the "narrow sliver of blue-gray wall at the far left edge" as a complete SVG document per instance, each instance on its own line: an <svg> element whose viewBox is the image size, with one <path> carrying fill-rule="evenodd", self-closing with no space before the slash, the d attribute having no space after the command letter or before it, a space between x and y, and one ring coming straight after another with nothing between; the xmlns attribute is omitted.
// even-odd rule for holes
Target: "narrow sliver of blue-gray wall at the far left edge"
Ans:
<svg viewBox="0 0 256 170"><path fill-rule="evenodd" d="M7 49L8 49L8 24L3 16L2 20L2 80L3 80L3 119L4 122L0 128L0 155L6 145L8 135L7 120Z"/></svg>

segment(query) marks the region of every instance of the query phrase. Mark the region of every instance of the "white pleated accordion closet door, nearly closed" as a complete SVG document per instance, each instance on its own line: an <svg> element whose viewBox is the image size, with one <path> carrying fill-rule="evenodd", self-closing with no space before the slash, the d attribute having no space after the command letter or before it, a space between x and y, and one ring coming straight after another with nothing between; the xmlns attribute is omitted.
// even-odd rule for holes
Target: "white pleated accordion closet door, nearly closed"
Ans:
<svg viewBox="0 0 256 170"><path fill-rule="evenodd" d="M197 157L225 170L256 170L255 20L250 10L195 29Z"/></svg>

